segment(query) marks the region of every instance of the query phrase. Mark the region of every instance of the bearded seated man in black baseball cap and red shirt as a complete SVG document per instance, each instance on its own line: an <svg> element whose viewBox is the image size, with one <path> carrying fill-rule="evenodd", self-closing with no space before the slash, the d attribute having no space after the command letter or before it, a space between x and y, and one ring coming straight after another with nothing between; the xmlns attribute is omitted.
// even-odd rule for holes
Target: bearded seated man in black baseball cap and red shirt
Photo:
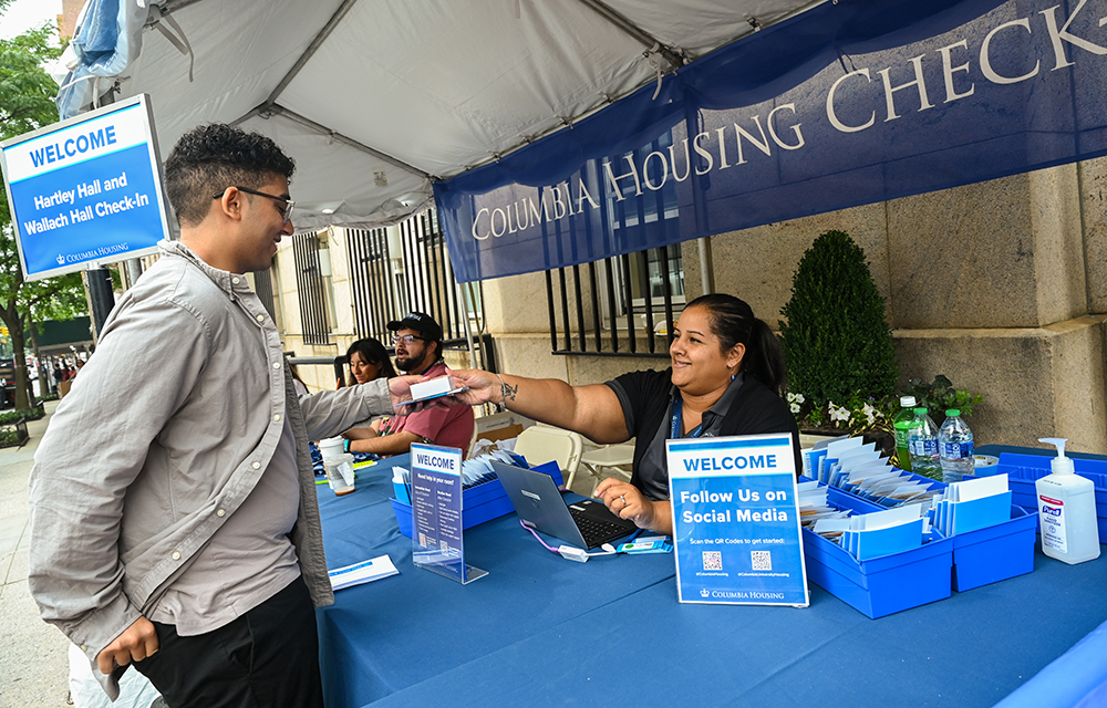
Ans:
<svg viewBox="0 0 1107 708"><path fill-rule="evenodd" d="M446 375L442 327L431 315L408 312L402 320L389 322L387 327L395 332L392 342L396 347L396 368L401 373L431 378ZM345 435L351 452L401 455L411 449L412 442L428 442L461 448L464 457L468 455L474 425L469 406L430 407L406 416L374 420L372 426L354 428Z"/></svg>

